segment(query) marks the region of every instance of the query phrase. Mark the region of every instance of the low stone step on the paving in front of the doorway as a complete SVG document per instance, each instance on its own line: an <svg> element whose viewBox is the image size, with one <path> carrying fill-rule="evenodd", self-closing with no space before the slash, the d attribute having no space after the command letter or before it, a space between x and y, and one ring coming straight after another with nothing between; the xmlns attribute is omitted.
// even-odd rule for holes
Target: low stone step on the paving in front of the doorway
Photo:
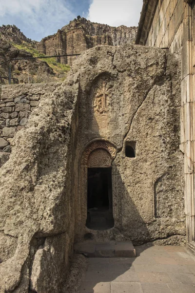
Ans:
<svg viewBox="0 0 195 293"><path fill-rule="evenodd" d="M87 257L136 257L136 250L131 241L95 242L87 240L76 243L74 251Z"/></svg>

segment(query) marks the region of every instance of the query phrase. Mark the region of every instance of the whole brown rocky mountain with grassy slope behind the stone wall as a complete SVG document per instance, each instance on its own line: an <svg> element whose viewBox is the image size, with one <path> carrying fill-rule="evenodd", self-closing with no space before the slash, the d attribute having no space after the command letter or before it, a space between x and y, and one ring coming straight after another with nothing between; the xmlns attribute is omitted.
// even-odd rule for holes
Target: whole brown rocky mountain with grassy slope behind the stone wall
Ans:
<svg viewBox="0 0 195 293"><path fill-rule="evenodd" d="M78 16L52 36L40 42L25 37L15 25L0 27L0 63L12 58L44 57L80 54L98 44L122 45L134 43L137 27L112 27L87 21ZM12 61L12 78L19 83L55 82L66 78L76 57L29 59ZM9 63L0 65L0 84L8 83ZM12 80L16 81L16 80Z"/></svg>

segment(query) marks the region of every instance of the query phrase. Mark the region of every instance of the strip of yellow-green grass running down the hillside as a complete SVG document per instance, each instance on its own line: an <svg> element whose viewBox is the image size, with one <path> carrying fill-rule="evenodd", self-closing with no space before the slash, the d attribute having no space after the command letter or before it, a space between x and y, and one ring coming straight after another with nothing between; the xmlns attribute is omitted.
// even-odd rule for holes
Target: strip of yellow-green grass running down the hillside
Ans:
<svg viewBox="0 0 195 293"><path fill-rule="evenodd" d="M39 53L38 50L36 50L33 46L31 46L29 43L23 42L22 44L16 44L12 42L13 46L18 48L19 50L25 50L33 55L33 57L44 57L45 54ZM62 64L56 61L55 57L50 57L50 58L44 58L44 59L39 59L42 61L45 61L53 70L55 73L58 74L64 74L64 77L61 78L63 81L66 78L66 74L70 70L70 66L67 64Z"/></svg>

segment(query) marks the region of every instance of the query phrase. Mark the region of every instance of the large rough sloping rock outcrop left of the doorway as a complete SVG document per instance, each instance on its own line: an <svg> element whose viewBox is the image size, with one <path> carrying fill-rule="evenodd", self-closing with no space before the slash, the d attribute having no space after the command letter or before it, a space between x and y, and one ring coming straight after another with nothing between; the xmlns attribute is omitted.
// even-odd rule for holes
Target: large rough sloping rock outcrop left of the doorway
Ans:
<svg viewBox="0 0 195 293"><path fill-rule="evenodd" d="M68 146L70 145L72 113L77 97L77 84L71 89L60 88L55 94L49 92L42 103L39 102L38 110L34 110L28 128L23 128L16 133L11 159L1 168L2 222L0 230L3 230L5 235L19 237L20 241L18 240L14 256L1 264L0 292L11 292L20 285L24 265L26 264L28 268L31 266L29 255L32 261L36 250L39 249L39 245L34 244L36 241L32 242L35 234L36 237L42 238L66 232L67 237L70 238L70 245L67 245L67 241L63 242L63 246L66 247L63 250L64 265L63 269L59 267L59 270L66 272L69 264L74 240L74 215L72 214L74 210L71 204L71 181L66 182L66 177L68 170L71 172L71 168L67 167L71 161ZM50 163L46 167L48 160ZM8 175L9 172L11 173ZM5 190L8 188L6 174L9 177L7 179L10 180L10 190L5 196ZM52 254L55 258L55 251L52 251ZM58 270L54 270L55 272L57 273ZM28 283L29 277L28 274ZM57 275L55 280L55 290L60 292L61 281L58 280ZM53 279L52 282L54 283ZM28 288L26 290L25 292L28 292Z"/></svg>

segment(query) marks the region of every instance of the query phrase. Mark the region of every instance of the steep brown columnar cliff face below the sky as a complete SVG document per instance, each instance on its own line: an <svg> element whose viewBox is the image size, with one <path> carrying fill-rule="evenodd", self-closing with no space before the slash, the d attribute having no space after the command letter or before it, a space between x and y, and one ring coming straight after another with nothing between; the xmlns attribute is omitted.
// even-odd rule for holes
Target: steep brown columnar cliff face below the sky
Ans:
<svg viewBox="0 0 195 293"><path fill-rule="evenodd" d="M45 55L79 54L98 44L122 45L134 43L137 27L112 27L107 24L94 23L84 18L70 21L52 36L37 43L37 50ZM76 57L61 57L59 62L72 65Z"/></svg>

